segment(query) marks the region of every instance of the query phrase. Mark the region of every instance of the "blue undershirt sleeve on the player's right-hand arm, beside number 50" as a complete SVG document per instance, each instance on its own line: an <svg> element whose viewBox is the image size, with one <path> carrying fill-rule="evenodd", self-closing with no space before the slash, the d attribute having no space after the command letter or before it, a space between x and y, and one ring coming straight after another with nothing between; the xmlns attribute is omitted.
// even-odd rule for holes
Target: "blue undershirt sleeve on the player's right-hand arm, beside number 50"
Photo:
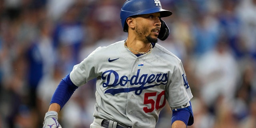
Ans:
<svg viewBox="0 0 256 128"><path fill-rule="evenodd" d="M191 102L190 106L186 108L178 108L176 110L172 110L172 123L176 120L183 121L186 126L190 126L194 123L194 115Z"/></svg>

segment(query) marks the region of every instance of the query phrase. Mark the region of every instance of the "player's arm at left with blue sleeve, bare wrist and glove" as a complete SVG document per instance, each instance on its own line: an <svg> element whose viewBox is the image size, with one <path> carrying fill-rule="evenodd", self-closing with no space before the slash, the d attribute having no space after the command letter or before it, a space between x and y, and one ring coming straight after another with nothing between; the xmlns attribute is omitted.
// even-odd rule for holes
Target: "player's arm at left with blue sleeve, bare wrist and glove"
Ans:
<svg viewBox="0 0 256 128"><path fill-rule="evenodd" d="M68 102L74 91L78 86L74 85L70 80L69 75L60 81L60 84L56 88L48 112L44 116L44 128L46 126L54 126L53 128L62 128L58 122L58 112Z"/></svg>

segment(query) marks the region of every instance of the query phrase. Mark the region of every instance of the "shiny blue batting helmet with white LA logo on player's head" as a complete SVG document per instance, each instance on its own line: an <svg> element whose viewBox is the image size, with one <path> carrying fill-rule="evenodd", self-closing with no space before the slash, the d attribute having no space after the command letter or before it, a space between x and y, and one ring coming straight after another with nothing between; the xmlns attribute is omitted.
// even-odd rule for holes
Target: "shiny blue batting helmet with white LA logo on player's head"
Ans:
<svg viewBox="0 0 256 128"><path fill-rule="evenodd" d="M120 12L120 19L124 32L128 32L126 23L128 17L155 12L160 12L160 17L172 15L171 11L162 9L160 0L126 0Z"/></svg>

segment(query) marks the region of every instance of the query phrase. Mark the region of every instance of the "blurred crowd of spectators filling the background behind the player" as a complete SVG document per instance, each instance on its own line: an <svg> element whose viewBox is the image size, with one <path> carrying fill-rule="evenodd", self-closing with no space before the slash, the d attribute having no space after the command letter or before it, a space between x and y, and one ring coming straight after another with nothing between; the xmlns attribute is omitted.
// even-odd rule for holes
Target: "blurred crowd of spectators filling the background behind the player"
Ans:
<svg viewBox="0 0 256 128"><path fill-rule="evenodd" d="M256 0L160 0L170 36L158 43L183 63L194 125L256 127ZM58 83L98 46L124 40L125 0L0 0L0 128L42 128ZM59 114L63 128L89 128L95 80ZM156 128L170 128L168 106Z"/></svg>

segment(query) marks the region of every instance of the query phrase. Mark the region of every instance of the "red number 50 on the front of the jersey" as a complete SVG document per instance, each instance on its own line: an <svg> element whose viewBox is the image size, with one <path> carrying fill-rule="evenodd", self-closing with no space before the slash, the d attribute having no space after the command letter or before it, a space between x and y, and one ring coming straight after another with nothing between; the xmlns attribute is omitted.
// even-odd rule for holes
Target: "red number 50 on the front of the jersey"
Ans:
<svg viewBox="0 0 256 128"><path fill-rule="evenodd" d="M155 109L155 103L156 103L156 110L164 107L165 105L165 91L162 91L160 94L157 95L156 102L153 99L149 99L149 97L151 96L156 96L156 92L149 92L144 94L144 104L151 104L151 108L148 108L148 107L143 108L144 112L146 113L153 112L153 110ZM162 105L159 105L162 96L164 96L164 102L162 103Z"/></svg>

